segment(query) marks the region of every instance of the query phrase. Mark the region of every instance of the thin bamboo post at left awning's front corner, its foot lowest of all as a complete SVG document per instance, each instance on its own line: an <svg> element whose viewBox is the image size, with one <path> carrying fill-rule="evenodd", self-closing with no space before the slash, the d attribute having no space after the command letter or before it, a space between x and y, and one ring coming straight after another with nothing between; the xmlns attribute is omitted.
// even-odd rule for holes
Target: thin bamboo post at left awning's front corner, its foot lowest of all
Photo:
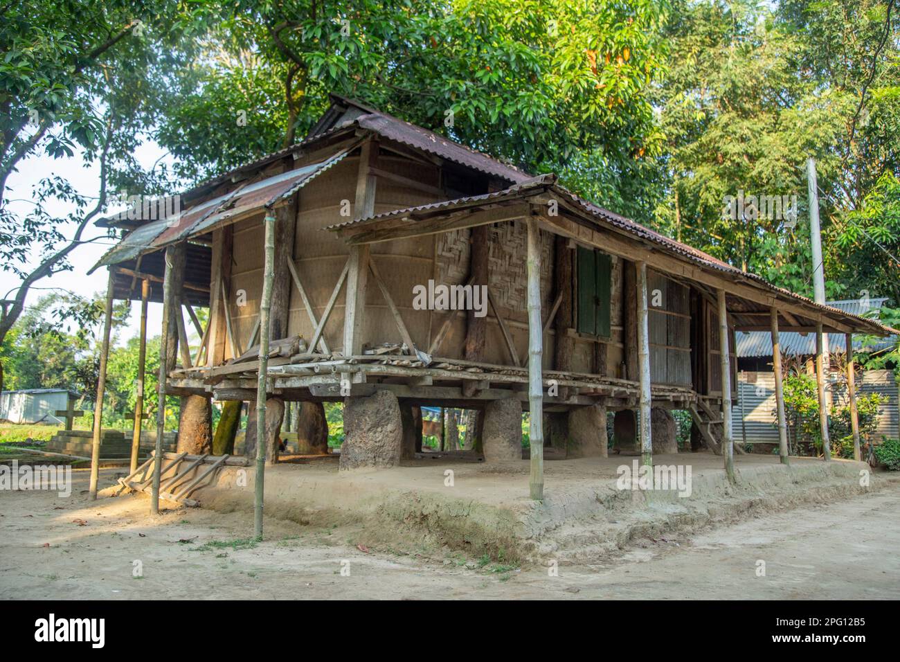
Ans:
<svg viewBox="0 0 900 662"><path fill-rule="evenodd" d="M266 267L263 295L259 304L259 376L257 379L257 478L254 493L254 524L257 540L263 538L263 481L266 477L266 372L269 367L269 335L272 320L272 286L275 280L275 214L266 212Z"/></svg>

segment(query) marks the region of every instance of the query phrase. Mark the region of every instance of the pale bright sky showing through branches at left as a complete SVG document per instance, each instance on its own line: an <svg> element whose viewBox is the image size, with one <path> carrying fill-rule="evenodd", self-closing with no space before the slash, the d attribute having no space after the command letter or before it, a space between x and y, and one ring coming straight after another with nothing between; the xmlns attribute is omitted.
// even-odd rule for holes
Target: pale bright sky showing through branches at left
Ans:
<svg viewBox="0 0 900 662"><path fill-rule="evenodd" d="M139 147L135 154L136 158L142 165L147 167L159 158L165 156L165 152L152 141L147 141ZM18 172L14 172L7 180L7 191L9 206L14 213L22 216L28 212L31 207L32 188L44 177L59 176L66 178L69 183L82 195L96 196L99 186L99 165L94 163L85 168L85 163L81 158L80 150L76 151L75 156L68 159L53 159L43 153L37 153L24 159L18 168ZM70 212L71 205L59 201L50 201L46 204L49 213L54 216L64 216ZM111 207L110 211L118 211L119 208ZM67 237L71 237L75 232L74 224L67 227L63 233ZM85 243L78 246L69 255L69 262L73 270L64 271L55 274L52 277L44 278L31 288L31 292L25 301L26 305L36 304L41 295L49 294L52 289L66 290L76 295L91 297L96 293L105 294L107 271L105 268L99 268L90 276L87 271L96 264L97 260L103 257L103 254L112 248L113 240L105 236L103 228L90 225L85 229L83 239L89 240L94 237L100 239ZM32 263L32 268L34 263ZM20 284L20 279L13 273L0 271L0 296L3 298L11 298L15 294L15 288ZM131 303L131 314L129 316L128 327L118 332L118 342L122 344L125 340L138 335L138 323L140 316L140 301ZM162 305L148 305L147 333L149 337L158 335L162 326ZM74 329L73 329L74 331Z"/></svg>

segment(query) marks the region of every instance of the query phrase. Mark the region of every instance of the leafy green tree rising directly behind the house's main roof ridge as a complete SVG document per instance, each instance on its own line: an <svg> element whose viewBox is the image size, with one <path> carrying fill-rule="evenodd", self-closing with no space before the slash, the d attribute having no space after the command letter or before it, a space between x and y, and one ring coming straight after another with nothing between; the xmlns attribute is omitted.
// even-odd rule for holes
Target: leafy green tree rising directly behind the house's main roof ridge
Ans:
<svg viewBox="0 0 900 662"><path fill-rule="evenodd" d="M209 4L220 22L178 73L157 140L199 180L293 144L338 92L630 200L635 161L660 147L647 92L662 66L661 5Z"/></svg>

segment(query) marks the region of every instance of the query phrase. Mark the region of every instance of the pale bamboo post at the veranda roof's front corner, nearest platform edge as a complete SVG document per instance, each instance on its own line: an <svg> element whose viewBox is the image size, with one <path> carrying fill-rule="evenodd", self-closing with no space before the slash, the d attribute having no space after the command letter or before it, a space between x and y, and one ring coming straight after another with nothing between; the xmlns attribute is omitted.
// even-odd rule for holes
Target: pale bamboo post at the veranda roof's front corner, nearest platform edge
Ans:
<svg viewBox="0 0 900 662"><path fill-rule="evenodd" d="M535 218L527 219L528 228L528 417L531 441L531 498L544 498L544 384L541 360L544 355L544 329L541 321L541 234Z"/></svg>

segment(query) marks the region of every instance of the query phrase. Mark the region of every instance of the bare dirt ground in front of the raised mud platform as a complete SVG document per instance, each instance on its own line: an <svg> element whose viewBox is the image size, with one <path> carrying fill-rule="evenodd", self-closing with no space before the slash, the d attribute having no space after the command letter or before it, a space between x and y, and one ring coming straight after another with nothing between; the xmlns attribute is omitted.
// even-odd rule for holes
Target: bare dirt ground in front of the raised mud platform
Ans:
<svg viewBox="0 0 900 662"><path fill-rule="evenodd" d="M112 476L104 470L103 484ZM254 545L246 513L183 508L152 519L145 496L88 503L87 477L73 472L69 498L0 492L0 598L900 597L897 479L846 501L640 540L619 558L554 576L449 549L357 549L353 527L271 519Z"/></svg>

